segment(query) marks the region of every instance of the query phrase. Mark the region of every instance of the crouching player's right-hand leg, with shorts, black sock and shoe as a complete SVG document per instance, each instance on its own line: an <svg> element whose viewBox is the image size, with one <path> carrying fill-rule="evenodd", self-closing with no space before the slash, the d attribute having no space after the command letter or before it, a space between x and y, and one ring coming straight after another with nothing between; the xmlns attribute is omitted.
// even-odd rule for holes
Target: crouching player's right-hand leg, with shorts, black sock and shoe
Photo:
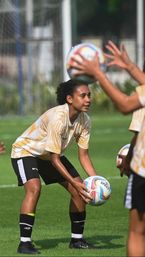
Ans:
<svg viewBox="0 0 145 257"><path fill-rule="evenodd" d="M75 178L76 181L79 181L82 183L82 179L79 176L79 173L70 163L70 161L65 156L61 156L60 161L63 163L66 170L69 172L69 174L73 178ZM39 166L41 166L41 170L39 169ZM52 165L51 161L44 161L39 159L38 171L46 185L52 184L52 183L59 183L71 194L71 200L69 205L69 215L70 215L71 228L72 228L72 240L74 240L75 242L73 244L70 243L69 247L78 248L78 249L80 248L100 249L101 247L91 246L87 244L85 240L82 240L82 234L84 230L84 223L85 223L85 216L86 216L85 202L83 202L80 199L75 188L60 175L60 173Z"/></svg>

